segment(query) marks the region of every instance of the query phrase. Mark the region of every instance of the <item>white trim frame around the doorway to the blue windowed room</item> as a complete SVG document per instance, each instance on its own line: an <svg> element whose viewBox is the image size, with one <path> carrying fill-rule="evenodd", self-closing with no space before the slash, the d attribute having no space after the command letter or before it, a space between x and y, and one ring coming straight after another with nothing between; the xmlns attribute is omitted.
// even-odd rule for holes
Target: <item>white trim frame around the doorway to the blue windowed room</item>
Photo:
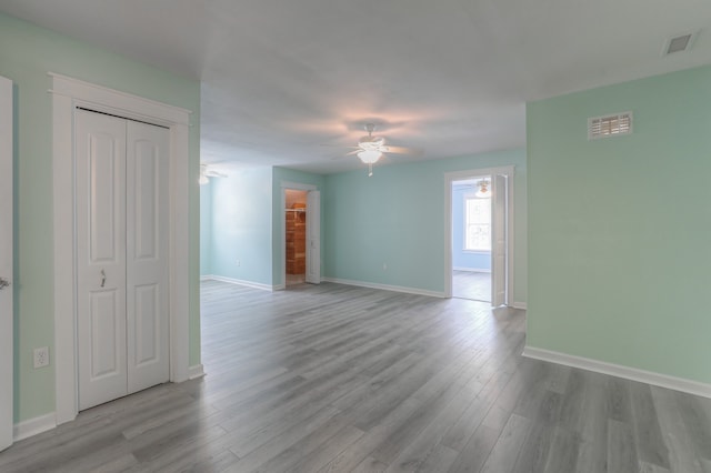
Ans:
<svg viewBox="0 0 711 473"><path fill-rule="evenodd" d="M484 175L507 175L508 203L507 209L507 305L513 304L513 174L514 167L505 165L500 168L470 169L465 171L444 173L444 296L452 296L452 182L465 181L468 179L481 178ZM491 269L493 271L493 268ZM492 273L493 278L493 273Z"/></svg>

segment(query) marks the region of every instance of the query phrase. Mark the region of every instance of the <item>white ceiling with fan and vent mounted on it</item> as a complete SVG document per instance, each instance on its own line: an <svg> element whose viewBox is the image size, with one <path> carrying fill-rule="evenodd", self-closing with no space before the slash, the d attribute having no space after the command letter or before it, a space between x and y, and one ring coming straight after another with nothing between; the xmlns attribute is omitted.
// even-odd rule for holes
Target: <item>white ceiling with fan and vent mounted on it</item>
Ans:
<svg viewBox="0 0 711 473"><path fill-rule="evenodd" d="M522 147L525 101L711 63L708 0L0 0L202 82L206 162L356 169ZM701 30L690 52L664 42ZM615 112L618 110L611 110ZM378 133L379 132L379 133Z"/></svg>

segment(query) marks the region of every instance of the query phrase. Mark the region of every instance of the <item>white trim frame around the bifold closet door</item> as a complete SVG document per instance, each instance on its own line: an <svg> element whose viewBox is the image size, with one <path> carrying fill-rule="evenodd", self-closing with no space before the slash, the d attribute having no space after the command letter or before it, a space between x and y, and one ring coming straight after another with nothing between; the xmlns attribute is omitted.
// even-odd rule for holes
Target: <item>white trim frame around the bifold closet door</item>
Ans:
<svg viewBox="0 0 711 473"><path fill-rule="evenodd" d="M54 197L56 422L77 416L77 270L74 232L74 110L140 120L170 130L170 381L189 378L189 118L190 111L66 76L52 79ZM196 183L197 185L197 183Z"/></svg>

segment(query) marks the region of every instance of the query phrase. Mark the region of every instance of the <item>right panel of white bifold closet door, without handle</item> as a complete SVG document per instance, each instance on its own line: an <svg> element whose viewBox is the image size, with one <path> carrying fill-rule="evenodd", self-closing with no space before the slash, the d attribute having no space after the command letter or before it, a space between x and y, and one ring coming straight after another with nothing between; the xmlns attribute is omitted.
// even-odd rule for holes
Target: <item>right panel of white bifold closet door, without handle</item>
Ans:
<svg viewBox="0 0 711 473"><path fill-rule="evenodd" d="M127 139L128 389L169 380L168 130L129 122Z"/></svg>

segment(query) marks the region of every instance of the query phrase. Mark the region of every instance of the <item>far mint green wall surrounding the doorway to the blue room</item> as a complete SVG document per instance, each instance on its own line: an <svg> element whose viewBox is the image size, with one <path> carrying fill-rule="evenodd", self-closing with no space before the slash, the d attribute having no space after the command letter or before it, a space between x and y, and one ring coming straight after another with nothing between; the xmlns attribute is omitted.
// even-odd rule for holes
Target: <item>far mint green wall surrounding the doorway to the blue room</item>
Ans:
<svg viewBox="0 0 711 473"><path fill-rule="evenodd" d="M514 294L525 292L525 152L522 149L331 174L322 197L324 275L444 291L444 173L513 164ZM387 264L387 270L383 270Z"/></svg>

